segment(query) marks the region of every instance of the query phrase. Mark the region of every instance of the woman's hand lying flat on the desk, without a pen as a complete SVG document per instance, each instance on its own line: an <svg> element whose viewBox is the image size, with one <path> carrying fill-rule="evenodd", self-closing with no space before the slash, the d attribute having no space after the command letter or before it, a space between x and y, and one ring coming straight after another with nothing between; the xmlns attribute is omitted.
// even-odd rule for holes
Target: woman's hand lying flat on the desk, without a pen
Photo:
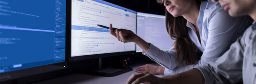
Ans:
<svg viewBox="0 0 256 84"><path fill-rule="evenodd" d="M162 67L162 66L155 66L155 65L151 65L151 64L146 64L146 65L140 66L136 70L136 72L138 72L138 73L148 72L148 73L157 75L157 74L164 74L164 69L165 68Z"/></svg>

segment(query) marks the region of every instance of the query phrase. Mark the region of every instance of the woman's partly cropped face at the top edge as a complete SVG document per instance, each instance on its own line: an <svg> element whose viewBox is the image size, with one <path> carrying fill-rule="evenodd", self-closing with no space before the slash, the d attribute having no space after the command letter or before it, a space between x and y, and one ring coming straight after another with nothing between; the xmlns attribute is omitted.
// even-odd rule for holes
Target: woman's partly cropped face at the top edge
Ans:
<svg viewBox="0 0 256 84"><path fill-rule="evenodd" d="M162 0L166 10L174 17L189 12L193 1L195 0Z"/></svg>

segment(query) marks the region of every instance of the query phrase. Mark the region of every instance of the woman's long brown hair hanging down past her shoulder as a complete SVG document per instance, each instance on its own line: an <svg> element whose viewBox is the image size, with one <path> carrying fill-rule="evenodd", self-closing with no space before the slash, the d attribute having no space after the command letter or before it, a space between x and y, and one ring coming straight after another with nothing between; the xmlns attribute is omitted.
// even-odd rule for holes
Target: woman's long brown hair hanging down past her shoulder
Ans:
<svg viewBox="0 0 256 84"><path fill-rule="evenodd" d="M198 6L203 0L196 0ZM157 0L162 3L162 0ZM191 65L195 64L196 59L199 59L202 52L192 42L188 35L188 27L186 26L187 20L183 16L173 17L167 10L165 10L165 24L166 30L172 39L175 39L174 51L179 61L179 65Z"/></svg>

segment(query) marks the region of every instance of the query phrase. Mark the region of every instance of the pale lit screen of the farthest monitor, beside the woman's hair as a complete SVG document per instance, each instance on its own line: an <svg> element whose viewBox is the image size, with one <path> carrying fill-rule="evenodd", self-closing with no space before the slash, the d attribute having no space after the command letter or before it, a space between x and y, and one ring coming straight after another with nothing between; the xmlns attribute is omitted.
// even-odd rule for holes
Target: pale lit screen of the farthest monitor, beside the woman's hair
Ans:
<svg viewBox="0 0 256 84"><path fill-rule="evenodd" d="M174 42L166 31L165 16L163 15L138 12L136 34L165 51L170 50ZM138 45L136 46L136 52L142 52L142 48Z"/></svg>

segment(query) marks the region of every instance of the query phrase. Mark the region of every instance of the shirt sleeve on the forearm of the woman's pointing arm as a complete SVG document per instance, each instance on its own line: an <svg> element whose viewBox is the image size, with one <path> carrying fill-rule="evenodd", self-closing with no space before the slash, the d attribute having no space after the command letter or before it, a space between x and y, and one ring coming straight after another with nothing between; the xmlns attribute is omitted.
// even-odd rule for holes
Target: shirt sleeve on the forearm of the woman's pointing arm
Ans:
<svg viewBox="0 0 256 84"><path fill-rule="evenodd" d="M173 47L170 49L170 51L166 52L160 50L150 43L147 52L142 51L142 54L146 55L151 60L156 61L156 63L167 69L173 70L176 66L178 66L178 61L176 59Z"/></svg>

